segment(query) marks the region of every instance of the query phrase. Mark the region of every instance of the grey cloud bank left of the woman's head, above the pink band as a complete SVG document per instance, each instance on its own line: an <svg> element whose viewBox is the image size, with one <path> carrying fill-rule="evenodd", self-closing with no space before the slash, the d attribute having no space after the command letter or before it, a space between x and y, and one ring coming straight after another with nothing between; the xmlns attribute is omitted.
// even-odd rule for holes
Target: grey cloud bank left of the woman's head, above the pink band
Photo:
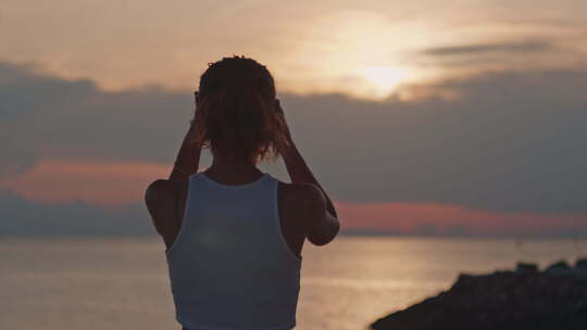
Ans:
<svg viewBox="0 0 587 330"><path fill-rule="evenodd" d="M192 96L155 87L105 92L0 63L0 173L41 157L165 162L188 127Z"/></svg>

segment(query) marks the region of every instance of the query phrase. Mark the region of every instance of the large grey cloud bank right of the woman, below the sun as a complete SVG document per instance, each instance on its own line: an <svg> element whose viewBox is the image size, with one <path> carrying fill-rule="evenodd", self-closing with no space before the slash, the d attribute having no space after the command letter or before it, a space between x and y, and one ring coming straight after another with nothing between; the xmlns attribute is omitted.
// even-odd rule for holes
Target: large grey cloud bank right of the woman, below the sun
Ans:
<svg viewBox="0 0 587 330"><path fill-rule="evenodd" d="M587 211L586 87L586 73L501 73L437 86L454 101L325 96L288 109L339 199L573 213Z"/></svg>

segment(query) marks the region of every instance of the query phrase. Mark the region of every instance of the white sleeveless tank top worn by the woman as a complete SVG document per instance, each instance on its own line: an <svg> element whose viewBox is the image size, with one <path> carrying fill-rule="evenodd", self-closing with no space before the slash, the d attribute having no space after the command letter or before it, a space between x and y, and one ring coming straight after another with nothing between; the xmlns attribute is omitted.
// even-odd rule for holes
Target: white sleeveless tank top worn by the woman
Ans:
<svg viewBox="0 0 587 330"><path fill-rule="evenodd" d="M296 326L301 257L282 234L278 180L188 179L182 227L165 252L177 321L189 330Z"/></svg>

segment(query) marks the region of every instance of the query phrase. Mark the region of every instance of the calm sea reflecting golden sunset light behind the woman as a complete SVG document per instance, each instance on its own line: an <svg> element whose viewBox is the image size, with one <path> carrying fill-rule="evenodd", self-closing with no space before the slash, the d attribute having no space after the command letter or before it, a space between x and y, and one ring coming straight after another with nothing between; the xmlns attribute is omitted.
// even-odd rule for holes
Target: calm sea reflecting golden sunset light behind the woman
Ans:
<svg viewBox="0 0 587 330"><path fill-rule="evenodd" d="M305 244L298 327L363 330L460 272L587 255L579 240L338 237ZM0 240L0 329L180 329L158 238Z"/></svg>

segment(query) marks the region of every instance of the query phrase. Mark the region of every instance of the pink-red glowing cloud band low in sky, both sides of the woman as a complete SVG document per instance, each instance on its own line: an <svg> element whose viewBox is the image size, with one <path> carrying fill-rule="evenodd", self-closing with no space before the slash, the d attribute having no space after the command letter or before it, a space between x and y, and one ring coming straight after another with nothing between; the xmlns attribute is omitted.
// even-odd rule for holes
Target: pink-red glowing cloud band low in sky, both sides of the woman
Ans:
<svg viewBox="0 0 587 330"><path fill-rule="evenodd" d="M168 165L141 162L43 160L25 175L0 178L0 186L43 203L82 200L103 207L141 202L147 186L165 178ZM344 229L419 233L433 227L440 233L464 228L473 234L541 233L587 224L587 215L545 215L473 210L462 205L387 202L337 202Z"/></svg>

